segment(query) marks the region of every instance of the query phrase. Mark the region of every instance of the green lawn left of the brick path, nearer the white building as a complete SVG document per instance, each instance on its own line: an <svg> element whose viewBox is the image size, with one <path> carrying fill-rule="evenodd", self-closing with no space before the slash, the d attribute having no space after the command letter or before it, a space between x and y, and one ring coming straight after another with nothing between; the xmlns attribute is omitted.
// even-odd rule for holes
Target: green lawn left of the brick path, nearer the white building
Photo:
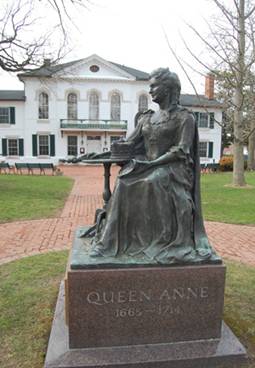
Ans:
<svg viewBox="0 0 255 368"><path fill-rule="evenodd" d="M56 216L72 183L60 176L0 175L0 222Z"/></svg>

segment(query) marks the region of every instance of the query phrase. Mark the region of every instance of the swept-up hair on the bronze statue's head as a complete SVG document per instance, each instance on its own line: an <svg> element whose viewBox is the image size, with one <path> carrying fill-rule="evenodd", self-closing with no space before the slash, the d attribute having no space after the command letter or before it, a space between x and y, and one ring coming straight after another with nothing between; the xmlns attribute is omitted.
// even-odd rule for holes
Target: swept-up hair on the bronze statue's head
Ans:
<svg viewBox="0 0 255 368"><path fill-rule="evenodd" d="M176 73L170 72L169 68L158 68L153 70L150 78L158 79L166 88L172 92L172 102L179 103L181 93L181 82Z"/></svg>

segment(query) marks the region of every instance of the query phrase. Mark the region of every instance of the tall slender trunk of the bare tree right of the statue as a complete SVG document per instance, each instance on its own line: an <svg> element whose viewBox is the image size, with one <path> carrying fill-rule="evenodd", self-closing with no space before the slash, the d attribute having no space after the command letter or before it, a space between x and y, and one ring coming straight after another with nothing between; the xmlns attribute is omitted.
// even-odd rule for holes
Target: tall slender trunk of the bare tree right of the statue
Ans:
<svg viewBox="0 0 255 368"><path fill-rule="evenodd" d="M234 93L234 165L233 165L233 185L245 186L244 178L244 156L243 156L243 92L245 76L245 0L239 1L238 17L238 55L236 70L236 88Z"/></svg>

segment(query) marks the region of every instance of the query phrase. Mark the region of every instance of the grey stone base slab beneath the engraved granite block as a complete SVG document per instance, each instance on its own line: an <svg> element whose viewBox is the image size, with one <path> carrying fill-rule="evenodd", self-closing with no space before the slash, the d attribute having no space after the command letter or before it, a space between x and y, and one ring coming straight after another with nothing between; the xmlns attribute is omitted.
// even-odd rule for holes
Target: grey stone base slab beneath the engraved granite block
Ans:
<svg viewBox="0 0 255 368"><path fill-rule="evenodd" d="M224 323L220 339L69 349L61 285L45 368L240 368L245 361L244 347Z"/></svg>

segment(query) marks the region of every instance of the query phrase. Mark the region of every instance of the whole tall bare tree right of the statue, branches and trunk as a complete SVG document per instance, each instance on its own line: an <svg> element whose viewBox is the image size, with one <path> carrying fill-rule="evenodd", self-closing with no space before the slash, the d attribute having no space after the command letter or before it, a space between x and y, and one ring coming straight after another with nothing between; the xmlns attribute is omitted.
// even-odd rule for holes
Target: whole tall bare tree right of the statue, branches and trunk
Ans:
<svg viewBox="0 0 255 368"><path fill-rule="evenodd" d="M233 147L234 168L233 185L244 186L244 156L243 148L253 130L246 132L244 116L244 101L247 79L252 73L255 62L255 4L254 0L233 0L231 7L224 0L211 0L221 16L214 19L214 25L209 22L210 39L203 36L195 27L190 29L206 46L214 59L210 65L197 57L189 49L193 57L203 67L209 69L216 76L220 71L227 71L225 78L233 92L231 105L233 109ZM231 78L229 78L231 75Z"/></svg>

